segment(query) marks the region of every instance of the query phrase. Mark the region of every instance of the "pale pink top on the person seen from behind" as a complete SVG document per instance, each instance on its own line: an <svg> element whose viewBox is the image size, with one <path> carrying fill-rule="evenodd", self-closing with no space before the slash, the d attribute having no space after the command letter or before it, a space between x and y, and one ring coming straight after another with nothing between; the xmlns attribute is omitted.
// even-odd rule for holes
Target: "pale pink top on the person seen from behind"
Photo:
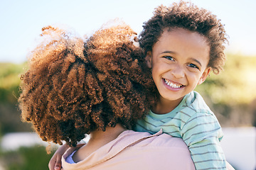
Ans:
<svg viewBox="0 0 256 170"><path fill-rule="evenodd" d="M100 147L81 162L66 161L63 154L63 170L72 169L195 169L186 144L178 137L163 134L126 130L117 139Z"/></svg>

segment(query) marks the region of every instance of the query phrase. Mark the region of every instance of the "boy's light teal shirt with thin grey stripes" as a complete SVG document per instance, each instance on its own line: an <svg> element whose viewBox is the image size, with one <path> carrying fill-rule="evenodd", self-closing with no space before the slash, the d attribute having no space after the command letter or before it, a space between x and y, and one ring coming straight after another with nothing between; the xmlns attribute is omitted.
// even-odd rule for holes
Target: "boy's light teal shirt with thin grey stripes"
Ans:
<svg viewBox="0 0 256 170"><path fill-rule="evenodd" d="M220 147L223 137L217 118L200 94L192 91L170 113L149 112L139 120L135 131L154 134L160 129L181 137L191 152L196 169L225 169L225 156Z"/></svg>

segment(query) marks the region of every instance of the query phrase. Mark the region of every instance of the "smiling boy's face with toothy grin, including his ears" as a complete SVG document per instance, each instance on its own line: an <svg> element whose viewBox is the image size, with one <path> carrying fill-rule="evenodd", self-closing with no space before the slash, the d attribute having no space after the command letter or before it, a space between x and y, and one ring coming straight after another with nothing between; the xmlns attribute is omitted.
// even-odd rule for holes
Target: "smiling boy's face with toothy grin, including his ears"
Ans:
<svg viewBox="0 0 256 170"><path fill-rule="evenodd" d="M180 102L206 80L210 47L206 39L183 28L164 30L152 51L146 55L161 98Z"/></svg>

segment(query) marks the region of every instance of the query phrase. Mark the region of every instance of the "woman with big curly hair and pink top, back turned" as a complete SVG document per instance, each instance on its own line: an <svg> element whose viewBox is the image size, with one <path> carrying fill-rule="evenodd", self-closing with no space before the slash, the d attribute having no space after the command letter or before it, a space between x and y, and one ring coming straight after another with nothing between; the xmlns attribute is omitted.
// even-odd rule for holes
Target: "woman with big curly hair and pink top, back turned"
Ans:
<svg viewBox="0 0 256 170"><path fill-rule="evenodd" d="M63 155L63 169L195 169L181 139L131 130L155 93L129 26L100 29L85 42L50 26L42 36L18 101L44 141L75 147L90 134Z"/></svg>

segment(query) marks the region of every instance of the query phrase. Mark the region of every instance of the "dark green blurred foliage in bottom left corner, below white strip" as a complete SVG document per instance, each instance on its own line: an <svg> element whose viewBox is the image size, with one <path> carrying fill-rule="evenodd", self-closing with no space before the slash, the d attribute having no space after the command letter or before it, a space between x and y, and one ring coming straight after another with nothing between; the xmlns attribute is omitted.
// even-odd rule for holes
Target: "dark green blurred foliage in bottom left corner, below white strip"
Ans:
<svg viewBox="0 0 256 170"><path fill-rule="evenodd" d="M53 153L47 154L46 147L41 146L21 147L17 151L2 152L0 159L6 170L46 170Z"/></svg>

